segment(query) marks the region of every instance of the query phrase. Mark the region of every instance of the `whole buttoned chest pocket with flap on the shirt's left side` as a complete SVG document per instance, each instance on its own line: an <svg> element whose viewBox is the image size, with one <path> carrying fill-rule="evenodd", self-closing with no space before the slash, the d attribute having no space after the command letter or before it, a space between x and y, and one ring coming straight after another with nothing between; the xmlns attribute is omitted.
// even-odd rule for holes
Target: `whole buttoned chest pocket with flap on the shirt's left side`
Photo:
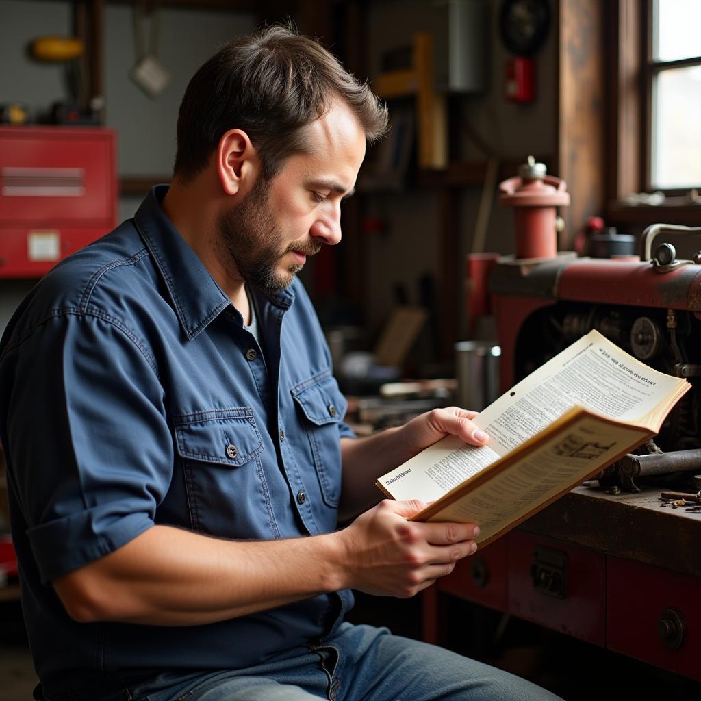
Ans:
<svg viewBox="0 0 701 701"><path fill-rule="evenodd" d="M174 426L193 529L226 538L274 537L259 458L264 444L252 409L183 414Z"/></svg>

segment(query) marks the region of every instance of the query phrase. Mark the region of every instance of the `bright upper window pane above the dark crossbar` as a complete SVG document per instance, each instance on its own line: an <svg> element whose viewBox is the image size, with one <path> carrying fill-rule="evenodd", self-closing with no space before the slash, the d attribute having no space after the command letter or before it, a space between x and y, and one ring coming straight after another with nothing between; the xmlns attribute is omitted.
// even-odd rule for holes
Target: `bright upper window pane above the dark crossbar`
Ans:
<svg viewBox="0 0 701 701"><path fill-rule="evenodd" d="M657 0L653 5L653 27L656 61L701 56L700 0Z"/></svg>

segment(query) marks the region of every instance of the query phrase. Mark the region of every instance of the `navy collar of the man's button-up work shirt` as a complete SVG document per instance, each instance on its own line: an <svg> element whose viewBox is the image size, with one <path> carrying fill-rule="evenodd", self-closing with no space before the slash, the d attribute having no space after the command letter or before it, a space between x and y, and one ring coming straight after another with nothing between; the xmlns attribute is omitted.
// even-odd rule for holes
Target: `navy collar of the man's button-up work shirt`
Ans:
<svg viewBox="0 0 701 701"><path fill-rule="evenodd" d="M161 200L167 192L168 185L152 187L134 219L168 288L180 324L187 337L193 339L231 301L163 212ZM289 308L294 292L287 288L266 293L264 298L276 306ZM238 313L237 318L240 318Z"/></svg>

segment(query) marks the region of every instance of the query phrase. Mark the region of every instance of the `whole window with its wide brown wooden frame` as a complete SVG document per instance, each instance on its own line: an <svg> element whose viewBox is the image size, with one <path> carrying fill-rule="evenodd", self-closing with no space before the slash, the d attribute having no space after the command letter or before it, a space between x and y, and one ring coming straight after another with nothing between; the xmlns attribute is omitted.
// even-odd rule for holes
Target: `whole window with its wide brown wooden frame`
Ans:
<svg viewBox="0 0 701 701"><path fill-rule="evenodd" d="M700 226L701 0L605 8L606 220Z"/></svg>

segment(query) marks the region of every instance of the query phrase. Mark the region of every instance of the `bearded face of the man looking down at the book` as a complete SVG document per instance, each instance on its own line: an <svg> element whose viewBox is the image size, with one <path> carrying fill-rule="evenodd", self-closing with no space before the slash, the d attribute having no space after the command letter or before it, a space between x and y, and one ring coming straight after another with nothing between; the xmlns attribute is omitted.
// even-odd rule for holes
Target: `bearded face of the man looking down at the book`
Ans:
<svg viewBox="0 0 701 701"><path fill-rule="evenodd" d="M322 245L339 243L341 200L353 193L365 157L365 132L342 104L308 126L308 142L308 153L287 158L271 180L259 176L217 220L219 254L266 292L290 285Z"/></svg>

